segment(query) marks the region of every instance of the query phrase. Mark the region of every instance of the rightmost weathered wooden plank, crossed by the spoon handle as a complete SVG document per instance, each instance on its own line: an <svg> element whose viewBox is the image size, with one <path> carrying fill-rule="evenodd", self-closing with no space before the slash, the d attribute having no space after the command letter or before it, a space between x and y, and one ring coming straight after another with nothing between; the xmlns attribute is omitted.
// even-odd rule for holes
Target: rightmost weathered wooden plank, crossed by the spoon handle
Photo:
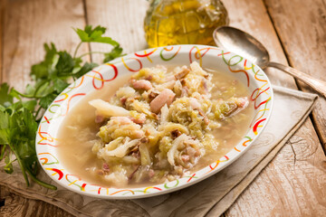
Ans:
<svg viewBox="0 0 326 217"><path fill-rule="evenodd" d="M326 2L264 0L275 29L283 42L290 65L315 78L326 80ZM285 21L285 22L284 22ZM299 82L304 91L312 91ZM313 123L326 152L326 99L312 112Z"/></svg>

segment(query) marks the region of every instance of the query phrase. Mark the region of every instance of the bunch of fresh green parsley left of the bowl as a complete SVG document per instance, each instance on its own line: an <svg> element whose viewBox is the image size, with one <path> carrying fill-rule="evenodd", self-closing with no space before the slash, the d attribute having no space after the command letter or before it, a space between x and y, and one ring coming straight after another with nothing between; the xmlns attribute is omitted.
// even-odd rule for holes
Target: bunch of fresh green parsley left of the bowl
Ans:
<svg viewBox="0 0 326 217"><path fill-rule="evenodd" d="M104 62L111 61L122 55L119 42L103 36L106 28L100 25L92 28L86 25L84 30L74 29L81 42L73 55L66 51L57 51L55 45L44 44L44 60L31 68L33 84L28 84L24 93L10 88L7 83L0 86L0 161L5 160L4 170L7 174L14 172L13 163L17 161L29 186L29 178L35 183L55 190L52 184L46 184L36 175L39 171L35 150L35 137L43 112L65 88L71 80L76 80L98 64L83 62L77 53L84 42L101 42L113 46L110 52L100 52Z"/></svg>

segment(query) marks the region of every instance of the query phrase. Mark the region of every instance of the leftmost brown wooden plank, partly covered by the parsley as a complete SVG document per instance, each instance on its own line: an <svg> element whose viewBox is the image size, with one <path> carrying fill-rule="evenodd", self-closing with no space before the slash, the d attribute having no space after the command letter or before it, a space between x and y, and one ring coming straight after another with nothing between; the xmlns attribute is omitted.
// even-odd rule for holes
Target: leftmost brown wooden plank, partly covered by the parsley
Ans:
<svg viewBox="0 0 326 217"><path fill-rule="evenodd" d="M0 2L0 5L5 4L5 1ZM30 82L32 64L43 60L43 42L54 42L59 50L72 52L79 42L72 27L82 28L85 24L82 0L6 1L0 17L3 17L0 25L3 33L0 36L3 45L1 81L17 90L24 90ZM83 46L81 52L88 52L88 47ZM0 199L5 199L0 216L71 216L48 203L14 194Z"/></svg>

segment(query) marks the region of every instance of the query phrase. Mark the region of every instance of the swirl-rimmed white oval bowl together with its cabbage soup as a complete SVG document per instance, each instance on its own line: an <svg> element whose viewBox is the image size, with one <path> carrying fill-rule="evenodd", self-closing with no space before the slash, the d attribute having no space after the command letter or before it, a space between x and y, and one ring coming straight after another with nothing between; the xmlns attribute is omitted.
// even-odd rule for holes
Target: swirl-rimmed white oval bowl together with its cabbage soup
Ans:
<svg viewBox="0 0 326 217"><path fill-rule="evenodd" d="M234 53L201 45L135 52L95 68L53 101L37 155L54 181L78 193L169 193L241 156L272 102L264 71Z"/></svg>

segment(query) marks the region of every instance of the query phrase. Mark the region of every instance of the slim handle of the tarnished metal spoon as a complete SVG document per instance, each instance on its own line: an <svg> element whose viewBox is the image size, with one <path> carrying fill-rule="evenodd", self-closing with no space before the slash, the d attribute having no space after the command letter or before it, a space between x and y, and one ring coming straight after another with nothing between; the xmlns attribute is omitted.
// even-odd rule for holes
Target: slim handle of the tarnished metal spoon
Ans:
<svg viewBox="0 0 326 217"><path fill-rule="evenodd" d="M326 98L326 82L325 81L312 78L312 76L310 76L306 73L303 73L302 71L295 70L290 66L285 66L285 65L277 63L277 62L272 61L272 62L268 63L268 66L279 69L288 74L291 74L294 78L296 78L298 80L302 80L302 82L308 84L314 90L320 92L324 98Z"/></svg>

